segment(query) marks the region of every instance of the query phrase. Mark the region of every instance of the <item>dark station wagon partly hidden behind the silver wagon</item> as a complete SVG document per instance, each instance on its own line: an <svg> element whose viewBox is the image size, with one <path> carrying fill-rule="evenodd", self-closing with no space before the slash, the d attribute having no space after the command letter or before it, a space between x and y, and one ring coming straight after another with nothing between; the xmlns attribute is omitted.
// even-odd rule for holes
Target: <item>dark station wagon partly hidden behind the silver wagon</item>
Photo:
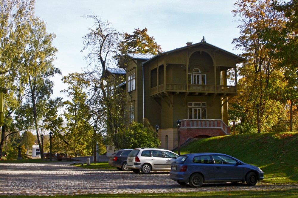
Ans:
<svg viewBox="0 0 298 198"><path fill-rule="evenodd" d="M112 167L117 167L118 170L128 171L129 168L126 167L127 156L132 149L120 149L115 151L109 157L109 165Z"/></svg>

